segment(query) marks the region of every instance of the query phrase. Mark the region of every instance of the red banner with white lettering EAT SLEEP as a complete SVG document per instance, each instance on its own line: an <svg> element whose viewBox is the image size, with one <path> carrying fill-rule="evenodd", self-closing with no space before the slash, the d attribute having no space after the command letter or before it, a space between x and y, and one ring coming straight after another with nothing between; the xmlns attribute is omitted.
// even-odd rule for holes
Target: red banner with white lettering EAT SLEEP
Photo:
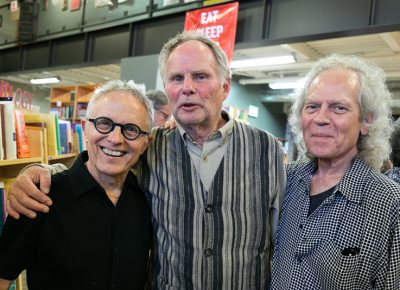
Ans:
<svg viewBox="0 0 400 290"><path fill-rule="evenodd" d="M186 12L185 31L198 30L219 43L228 60L235 46L239 3L229 3Z"/></svg>

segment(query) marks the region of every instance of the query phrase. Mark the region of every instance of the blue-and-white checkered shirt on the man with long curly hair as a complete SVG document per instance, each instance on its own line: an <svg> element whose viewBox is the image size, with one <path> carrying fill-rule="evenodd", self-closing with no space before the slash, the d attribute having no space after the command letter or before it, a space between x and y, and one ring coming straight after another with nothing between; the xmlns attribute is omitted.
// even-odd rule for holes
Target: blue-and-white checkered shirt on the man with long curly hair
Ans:
<svg viewBox="0 0 400 290"><path fill-rule="evenodd" d="M271 288L400 289L400 186L356 159L307 216L315 169L288 167Z"/></svg>

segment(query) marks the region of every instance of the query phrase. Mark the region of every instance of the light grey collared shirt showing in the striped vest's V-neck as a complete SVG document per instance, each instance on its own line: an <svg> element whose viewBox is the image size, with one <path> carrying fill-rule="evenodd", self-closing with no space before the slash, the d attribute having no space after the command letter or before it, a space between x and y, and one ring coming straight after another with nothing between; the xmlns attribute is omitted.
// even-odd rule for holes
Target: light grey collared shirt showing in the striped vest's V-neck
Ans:
<svg viewBox="0 0 400 290"><path fill-rule="evenodd" d="M200 175L204 188L207 190L211 186L211 182L214 179L219 164L221 163L227 142L233 131L233 119L230 119L228 113L225 111L222 111L221 115L227 123L217 132L212 134L204 142L203 146L199 146L199 144L195 143L189 134L179 126L179 124L177 124L179 133L185 141L186 148L188 149L190 159Z"/></svg>

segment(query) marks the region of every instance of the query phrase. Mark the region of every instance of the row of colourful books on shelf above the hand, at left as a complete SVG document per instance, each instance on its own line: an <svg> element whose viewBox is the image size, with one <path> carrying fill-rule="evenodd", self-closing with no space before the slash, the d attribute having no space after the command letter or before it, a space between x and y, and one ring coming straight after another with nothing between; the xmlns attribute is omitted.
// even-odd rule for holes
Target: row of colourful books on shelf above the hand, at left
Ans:
<svg viewBox="0 0 400 290"><path fill-rule="evenodd" d="M14 107L11 98L0 98L0 160L57 156L85 149L80 124ZM44 148L45 147L45 148Z"/></svg>

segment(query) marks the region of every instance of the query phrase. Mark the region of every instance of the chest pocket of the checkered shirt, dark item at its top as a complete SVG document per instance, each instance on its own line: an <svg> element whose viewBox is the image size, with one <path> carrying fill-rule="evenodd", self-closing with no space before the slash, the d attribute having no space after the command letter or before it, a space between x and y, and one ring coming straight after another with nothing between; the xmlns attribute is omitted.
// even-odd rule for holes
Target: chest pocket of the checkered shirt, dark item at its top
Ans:
<svg viewBox="0 0 400 290"><path fill-rule="evenodd" d="M348 247L353 246L338 246L333 240L327 240L319 247L313 266L323 289L359 289L360 253L343 255L342 251Z"/></svg>

